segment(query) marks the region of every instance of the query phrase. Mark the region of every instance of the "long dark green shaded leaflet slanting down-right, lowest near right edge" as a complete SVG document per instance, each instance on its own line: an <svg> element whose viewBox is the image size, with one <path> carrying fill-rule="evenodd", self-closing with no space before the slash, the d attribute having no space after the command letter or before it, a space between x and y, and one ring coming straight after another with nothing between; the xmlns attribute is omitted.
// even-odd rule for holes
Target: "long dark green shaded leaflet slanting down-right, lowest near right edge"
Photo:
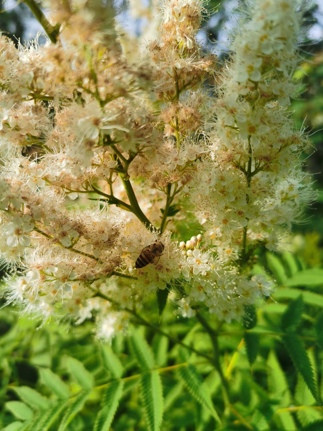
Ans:
<svg viewBox="0 0 323 431"><path fill-rule="evenodd" d="M317 387L314 380L314 373L310 359L307 356L303 343L296 334L286 334L282 336L283 344L291 357L295 368L302 375L308 389L318 404L320 400L317 394Z"/></svg>

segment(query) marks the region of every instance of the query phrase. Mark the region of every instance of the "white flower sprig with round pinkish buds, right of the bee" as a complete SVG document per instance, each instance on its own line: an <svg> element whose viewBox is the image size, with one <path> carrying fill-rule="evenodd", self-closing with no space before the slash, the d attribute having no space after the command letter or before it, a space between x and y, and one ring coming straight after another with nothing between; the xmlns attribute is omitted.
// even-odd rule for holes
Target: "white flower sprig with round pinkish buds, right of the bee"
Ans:
<svg viewBox="0 0 323 431"><path fill-rule="evenodd" d="M205 303L210 312L216 313L220 319L230 322L244 314L244 306L254 304L257 297L268 296L272 283L263 275L246 278L239 269L232 265L236 259L233 250L220 250L201 247L202 235L192 237L189 241L181 241L182 250L181 273L185 280L187 296L180 299L180 312L183 316L194 314L190 304ZM216 254L217 253L217 254Z"/></svg>

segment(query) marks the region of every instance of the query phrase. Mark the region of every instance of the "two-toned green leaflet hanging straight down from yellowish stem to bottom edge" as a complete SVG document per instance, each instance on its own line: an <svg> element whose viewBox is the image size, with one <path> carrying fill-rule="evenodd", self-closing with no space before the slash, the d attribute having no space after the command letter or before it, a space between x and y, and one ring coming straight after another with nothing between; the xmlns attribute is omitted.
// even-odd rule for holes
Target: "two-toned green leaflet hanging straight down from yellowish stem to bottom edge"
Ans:
<svg viewBox="0 0 323 431"><path fill-rule="evenodd" d="M163 417L162 381L157 370L143 373L140 379L141 397L148 431L158 431Z"/></svg>

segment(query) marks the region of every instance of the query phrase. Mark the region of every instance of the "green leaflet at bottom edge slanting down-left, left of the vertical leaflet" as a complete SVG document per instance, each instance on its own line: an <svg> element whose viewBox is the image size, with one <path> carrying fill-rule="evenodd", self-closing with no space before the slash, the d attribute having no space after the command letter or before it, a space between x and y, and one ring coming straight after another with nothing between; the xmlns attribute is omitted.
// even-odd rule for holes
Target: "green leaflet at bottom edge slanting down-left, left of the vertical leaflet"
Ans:
<svg viewBox="0 0 323 431"><path fill-rule="evenodd" d="M124 381L112 381L109 384L101 402L101 410L96 416L93 431L109 431L122 397L123 388Z"/></svg>

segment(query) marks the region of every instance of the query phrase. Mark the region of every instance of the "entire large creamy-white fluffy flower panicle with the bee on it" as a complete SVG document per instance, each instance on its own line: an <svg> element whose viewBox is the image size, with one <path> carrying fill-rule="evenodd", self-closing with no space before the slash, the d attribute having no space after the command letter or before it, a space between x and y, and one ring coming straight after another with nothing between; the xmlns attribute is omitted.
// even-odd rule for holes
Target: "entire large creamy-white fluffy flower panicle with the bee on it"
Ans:
<svg viewBox="0 0 323 431"><path fill-rule="evenodd" d="M135 64L105 2L46 7L56 44L0 37L7 302L44 320L94 317L104 338L157 290L173 290L183 316L207 306L238 319L272 289L249 257L275 250L313 198L288 112L293 1L255 1L227 67L196 41L201 0L165 0L158 39ZM180 241L186 218L203 237Z"/></svg>

